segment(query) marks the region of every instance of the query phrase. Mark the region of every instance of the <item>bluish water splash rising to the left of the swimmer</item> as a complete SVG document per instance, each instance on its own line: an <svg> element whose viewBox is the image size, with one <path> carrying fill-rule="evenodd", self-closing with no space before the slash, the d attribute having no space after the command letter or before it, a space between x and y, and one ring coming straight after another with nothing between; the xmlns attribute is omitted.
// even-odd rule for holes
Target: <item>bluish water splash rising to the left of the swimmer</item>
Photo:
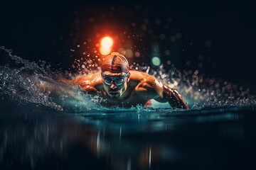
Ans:
<svg viewBox="0 0 256 170"><path fill-rule="evenodd" d="M36 62L12 55L11 50L4 47L0 49L4 50L16 64L21 64L18 68L11 68L7 64L0 66L2 98L6 96L17 104L37 103L57 111L79 112L100 109L95 102L99 98L90 98L78 86L58 82L58 75L50 71L49 65L46 68L41 67ZM42 84L50 87L52 92L38 88Z"/></svg>

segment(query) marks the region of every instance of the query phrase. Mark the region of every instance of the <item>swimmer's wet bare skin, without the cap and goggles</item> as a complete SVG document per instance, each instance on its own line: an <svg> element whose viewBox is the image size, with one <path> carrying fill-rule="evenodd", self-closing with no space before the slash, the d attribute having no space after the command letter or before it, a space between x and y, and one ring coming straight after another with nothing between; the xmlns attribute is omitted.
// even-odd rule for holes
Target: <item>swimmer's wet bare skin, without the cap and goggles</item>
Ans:
<svg viewBox="0 0 256 170"><path fill-rule="evenodd" d="M145 72L130 71L129 76L124 78L124 83L117 86L114 80L111 85L107 85L101 73L90 74L78 77L74 80L61 79L68 84L78 84L87 94L99 95L103 99L104 106L132 107L144 106L150 99L155 99L161 103L168 102L173 108L188 109L188 105L180 94L171 89L164 82ZM122 73L107 72L110 76L119 76ZM103 81L102 81L103 80Z"/></svg>

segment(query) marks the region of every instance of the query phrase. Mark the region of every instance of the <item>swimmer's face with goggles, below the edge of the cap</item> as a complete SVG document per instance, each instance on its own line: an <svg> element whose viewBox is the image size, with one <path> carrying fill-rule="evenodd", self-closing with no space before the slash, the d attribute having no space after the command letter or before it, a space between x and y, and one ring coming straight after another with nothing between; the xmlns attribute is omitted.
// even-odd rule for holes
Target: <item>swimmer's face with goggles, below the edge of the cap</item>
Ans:
<svg viewBox="0 0 256 170"><path fill-rule="evenodd" d="M102 72L104 90L112 100L118 100L127 90L129 73Z"/></svg>

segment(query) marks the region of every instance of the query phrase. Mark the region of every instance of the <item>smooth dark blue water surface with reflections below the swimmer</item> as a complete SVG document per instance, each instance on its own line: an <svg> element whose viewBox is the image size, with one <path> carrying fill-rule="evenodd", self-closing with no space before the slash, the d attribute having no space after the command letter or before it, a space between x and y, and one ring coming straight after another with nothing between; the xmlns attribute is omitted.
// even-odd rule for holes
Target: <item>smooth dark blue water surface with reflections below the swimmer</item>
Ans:
<svg viewBox="0 0 256 170"><path fill-rule="evenodd" d="M11 114L10 114L11 113ZM255 169L255 108L1 109L1 169Z"/></svg>

